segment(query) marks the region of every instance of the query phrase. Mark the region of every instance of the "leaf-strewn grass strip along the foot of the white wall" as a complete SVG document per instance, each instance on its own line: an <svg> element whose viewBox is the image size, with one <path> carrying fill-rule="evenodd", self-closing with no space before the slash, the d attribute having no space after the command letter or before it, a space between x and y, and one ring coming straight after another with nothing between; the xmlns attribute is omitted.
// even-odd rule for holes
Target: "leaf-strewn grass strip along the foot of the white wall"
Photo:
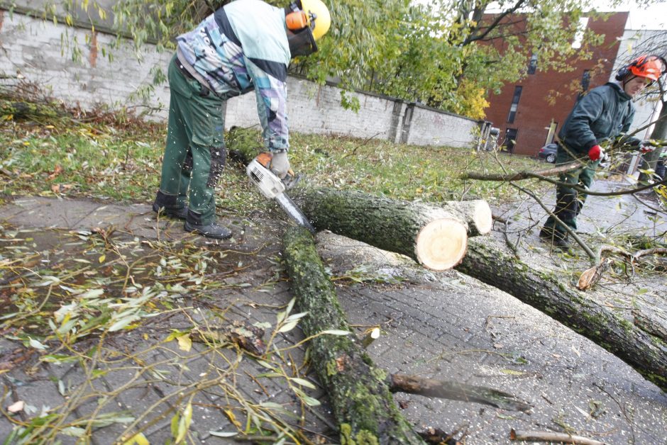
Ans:
<svg viewBox="0 0 667 445"><path fill-rule="evenodd" d="M0 193L150 202L160 181L165 125L114 126L67 120L0 125ZM255 128L228 135L228 146L255 143ZM292 135L290 161L312 186L358 188L393 198L437 203L465 197L491 203L515 191L492 182L458 179L463 171L520 171L542 167L534 159L451 147L395 145L383 140ZM219 210L245 217L265 203L240 166L228 165L219 183Z"/></svg>

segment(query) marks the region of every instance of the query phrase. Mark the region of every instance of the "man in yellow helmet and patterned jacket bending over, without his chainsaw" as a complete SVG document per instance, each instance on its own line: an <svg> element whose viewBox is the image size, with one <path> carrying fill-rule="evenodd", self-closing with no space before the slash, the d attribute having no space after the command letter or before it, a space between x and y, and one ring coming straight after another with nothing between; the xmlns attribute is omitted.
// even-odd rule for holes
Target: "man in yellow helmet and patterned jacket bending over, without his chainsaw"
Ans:
<svg viewBox="0 0 667 445"><path fill-rule="evenodd" d="M260 0L227 4L177 38L169 65L169 124L155 212L185 220L184 228L224 240L216 223L215 186L226 161L224 101L255 90L267 167L284 179L290 169L287 66L317 50L331 19L321 0L285 9Z"/></svg>

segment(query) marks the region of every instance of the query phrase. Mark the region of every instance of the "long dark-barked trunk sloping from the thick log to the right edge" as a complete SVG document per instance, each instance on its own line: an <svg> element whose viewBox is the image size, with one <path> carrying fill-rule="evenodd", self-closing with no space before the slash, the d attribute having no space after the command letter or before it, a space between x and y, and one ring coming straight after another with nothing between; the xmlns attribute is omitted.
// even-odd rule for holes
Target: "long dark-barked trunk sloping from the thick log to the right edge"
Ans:
<svg viewBox="0 0 667 445"><path fill-rule="evenodd" d="M550 315L667 389L667 347L623 315L569 288L562 280L533 271L487 242L470 240L457 270L495 286Z"/></svg>

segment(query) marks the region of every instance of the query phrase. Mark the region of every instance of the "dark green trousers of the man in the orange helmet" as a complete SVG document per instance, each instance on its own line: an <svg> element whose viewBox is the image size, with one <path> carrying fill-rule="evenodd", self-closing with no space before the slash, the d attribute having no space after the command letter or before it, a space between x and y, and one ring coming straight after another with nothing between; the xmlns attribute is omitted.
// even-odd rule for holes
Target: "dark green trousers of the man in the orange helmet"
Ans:
<svg viewBox="0 0 667 445"><path fill-rule="evenodd" d="M590 162L585 167L561 174L559 180L572 186L588 189L593 184L598 164L600 162ZM556 209L553 210L553 214L570 229L577 230L577 216L581 213L587 196L587 193L580 193L570 186L556 186ZM563 240L568 237L566 228L551 216L546 220L544 229Z"/></svg>

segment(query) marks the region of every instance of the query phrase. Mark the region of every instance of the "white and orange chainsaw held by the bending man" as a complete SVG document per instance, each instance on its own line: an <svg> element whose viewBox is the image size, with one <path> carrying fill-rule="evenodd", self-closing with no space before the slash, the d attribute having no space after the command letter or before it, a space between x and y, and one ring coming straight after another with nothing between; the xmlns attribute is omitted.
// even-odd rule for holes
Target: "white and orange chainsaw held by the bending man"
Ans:
<svg viewBox="0 0 667 445"><path fill-rule="evenodd" d="M294 172L290 170L288 181L283 181L278 176L273 174L269 169L271 163L271 154L268 152L260 153L255 157L248 167L246 167L246 174L250 178L250 182L255 184L260 189L260 192L269 199L275 199L280 204L282 210L294 220L295 223L302 227L306 227L311 233L315 233L315 228L312 226L306 215L299 209L299 206L292 201L292 198L285 193L286 184L294 186L298 178L294 176Z"/></svg>

